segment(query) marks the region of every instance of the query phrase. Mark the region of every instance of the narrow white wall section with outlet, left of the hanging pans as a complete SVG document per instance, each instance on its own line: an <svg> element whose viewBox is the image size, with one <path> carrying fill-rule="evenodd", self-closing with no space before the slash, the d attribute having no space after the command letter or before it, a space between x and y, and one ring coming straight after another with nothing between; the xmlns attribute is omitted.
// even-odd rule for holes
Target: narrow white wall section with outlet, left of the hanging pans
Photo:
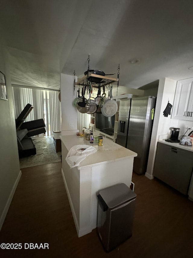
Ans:
<svg viewBox="0 0 193 258"><path fill-rule="evenodd" d="M77 81L77 77L75 78ZM73 90L74 76L61 73L60 98L61 98L61 131L62 135L72 135L78 132L77 109L73 106L73 100L77 96L77 89ZM74 128L69 128L69 123L74 123Z"/></svg>

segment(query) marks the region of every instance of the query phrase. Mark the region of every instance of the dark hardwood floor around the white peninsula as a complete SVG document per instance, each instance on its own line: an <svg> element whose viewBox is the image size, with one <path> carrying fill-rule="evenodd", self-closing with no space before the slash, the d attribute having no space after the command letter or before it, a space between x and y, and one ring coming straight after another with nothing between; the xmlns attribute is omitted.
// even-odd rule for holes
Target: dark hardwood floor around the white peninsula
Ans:
<svg viewBox="0 0 193 258"><path fill-rule="evenodd" d="M0 232L0 243L22 243L0 257L193 257L193 202L153 179L134 174L137 194L132 237L106 253L96 234L78 238L61 174L61 162L22 169ZM48 243L49 250L24 249Z"/></svg>

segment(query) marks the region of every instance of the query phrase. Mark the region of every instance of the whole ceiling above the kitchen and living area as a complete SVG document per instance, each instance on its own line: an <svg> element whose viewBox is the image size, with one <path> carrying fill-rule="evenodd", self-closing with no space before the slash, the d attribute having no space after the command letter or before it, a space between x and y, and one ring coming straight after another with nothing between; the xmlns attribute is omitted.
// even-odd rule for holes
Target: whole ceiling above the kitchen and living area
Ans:
<svg viewBox="0 0 193 258"><path fill-rule="evenodd" d="M60 72L115 73L139 88L193 77L193 1L2 0L1 44L13 84L58 89ZM132 64L131 60L139 62Z"/></svg>

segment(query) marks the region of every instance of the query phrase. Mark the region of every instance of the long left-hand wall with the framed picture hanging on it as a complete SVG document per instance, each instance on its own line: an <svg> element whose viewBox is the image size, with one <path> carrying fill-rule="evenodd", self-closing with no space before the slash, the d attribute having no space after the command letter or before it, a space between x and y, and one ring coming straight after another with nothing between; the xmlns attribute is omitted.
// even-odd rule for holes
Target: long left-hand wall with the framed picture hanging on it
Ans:
<svg viewBox="0 0 193 258"><path fill-rule="evenodd" d="M0 71L5 74L7 100L0 100L0 229L21 176L14 103L6 48L0 45Z"/></svg>

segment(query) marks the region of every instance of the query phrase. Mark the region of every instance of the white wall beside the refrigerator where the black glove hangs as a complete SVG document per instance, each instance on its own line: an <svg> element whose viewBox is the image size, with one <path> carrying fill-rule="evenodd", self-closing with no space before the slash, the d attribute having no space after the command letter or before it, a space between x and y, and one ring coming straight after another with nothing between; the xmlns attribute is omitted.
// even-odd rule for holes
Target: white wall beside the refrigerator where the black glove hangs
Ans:
<svg viewBox="0 0 193 258"><path fill-rule="evenodd" d="M173 104L175 90L176 80L172 80L169 78L160 79L157 92L157 102L153 121L147 171L145 174L150 179L153 178L153 165L155 161L158 138L160 135L170 134L169 128L171 126L176 126L174 125L176 123L176 120L170 119L171 116L163 116L163 110L166 108L168 100L171 104Z"/></svg>

